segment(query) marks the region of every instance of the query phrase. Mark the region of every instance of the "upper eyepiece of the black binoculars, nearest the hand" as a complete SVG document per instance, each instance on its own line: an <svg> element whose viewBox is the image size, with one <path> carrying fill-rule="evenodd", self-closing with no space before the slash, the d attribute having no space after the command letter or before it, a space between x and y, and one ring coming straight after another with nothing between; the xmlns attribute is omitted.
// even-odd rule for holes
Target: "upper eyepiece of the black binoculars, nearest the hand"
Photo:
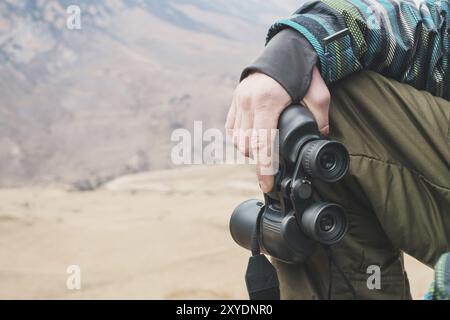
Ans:
<svg viewBox="0 0 450 320"><path fill-rule="evenodd" d="M308 142L301 161L307 174L325 182L340 180L350 162L347 149L339 142L328 140Z"/></svg>

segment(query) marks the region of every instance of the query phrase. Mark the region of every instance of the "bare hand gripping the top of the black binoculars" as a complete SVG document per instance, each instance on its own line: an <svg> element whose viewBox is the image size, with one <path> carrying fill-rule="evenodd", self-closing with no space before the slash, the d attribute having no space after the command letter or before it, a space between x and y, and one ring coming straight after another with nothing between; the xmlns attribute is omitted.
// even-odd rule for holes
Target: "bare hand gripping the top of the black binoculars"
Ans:
<svg viewBox="0 0 450 320"><path fill-rule="evenodd" d="M313 70L311 85L303 102L313 113L321 132L328 134L328 108L330 93L317 67ZM261 138L261 129L270 132L277 129L281 112L292 103L286 90L271 77L253 73L236 88L225 128L233 137L233 143L246 156L256 156L256 174L264 193L273 188L273 176L264 174L270 162L261 161L258 155L271 159L273 141ZM267 157L266 157L267 158Z"/></svg>

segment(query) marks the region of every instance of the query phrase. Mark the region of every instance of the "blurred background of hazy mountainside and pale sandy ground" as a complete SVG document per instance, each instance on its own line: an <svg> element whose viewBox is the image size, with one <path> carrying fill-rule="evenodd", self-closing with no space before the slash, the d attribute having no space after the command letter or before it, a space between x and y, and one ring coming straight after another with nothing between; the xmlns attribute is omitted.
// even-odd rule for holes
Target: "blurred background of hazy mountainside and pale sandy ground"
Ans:
<svg viewBox="0 0 450 320"><path fill-rule="evenodd" d="M228 219L261 198L253 168L175 167L170 135L222 129L240 71L302 3L2 0L0 298L246 298ZM420 298L432 272L407 266Z"/></svg>

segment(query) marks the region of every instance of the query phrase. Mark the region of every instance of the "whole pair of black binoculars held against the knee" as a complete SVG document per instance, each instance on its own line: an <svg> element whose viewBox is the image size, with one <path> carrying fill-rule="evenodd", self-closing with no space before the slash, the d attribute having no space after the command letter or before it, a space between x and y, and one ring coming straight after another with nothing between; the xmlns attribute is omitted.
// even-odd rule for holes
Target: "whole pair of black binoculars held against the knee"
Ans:
<svg viewBox="0 0 450 320"><path fill-rule="evenodd" d="M230 232L240 246L286 263L304 261L318 243L332 245L347 231L343 208L319 199L314 181L336 182L349 168L347 149L324 138L313 115L291 105L278 122L279 169L264 203L247 200L230 219Z"/></svg>

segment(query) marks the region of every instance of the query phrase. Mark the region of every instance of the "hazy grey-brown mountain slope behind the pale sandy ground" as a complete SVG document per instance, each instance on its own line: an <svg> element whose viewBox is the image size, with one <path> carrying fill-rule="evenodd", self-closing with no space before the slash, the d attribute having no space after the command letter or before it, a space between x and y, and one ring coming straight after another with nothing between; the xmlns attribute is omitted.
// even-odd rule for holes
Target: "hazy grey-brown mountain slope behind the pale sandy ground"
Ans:
<svg viewBox="0 0 450 320"><path fill-rule="evenodd" d="M66 27L69 5L81 29ZM222 128L240 70L299 1L4 0L0 186L94 188L170 168L170 134Z"/></svg>

